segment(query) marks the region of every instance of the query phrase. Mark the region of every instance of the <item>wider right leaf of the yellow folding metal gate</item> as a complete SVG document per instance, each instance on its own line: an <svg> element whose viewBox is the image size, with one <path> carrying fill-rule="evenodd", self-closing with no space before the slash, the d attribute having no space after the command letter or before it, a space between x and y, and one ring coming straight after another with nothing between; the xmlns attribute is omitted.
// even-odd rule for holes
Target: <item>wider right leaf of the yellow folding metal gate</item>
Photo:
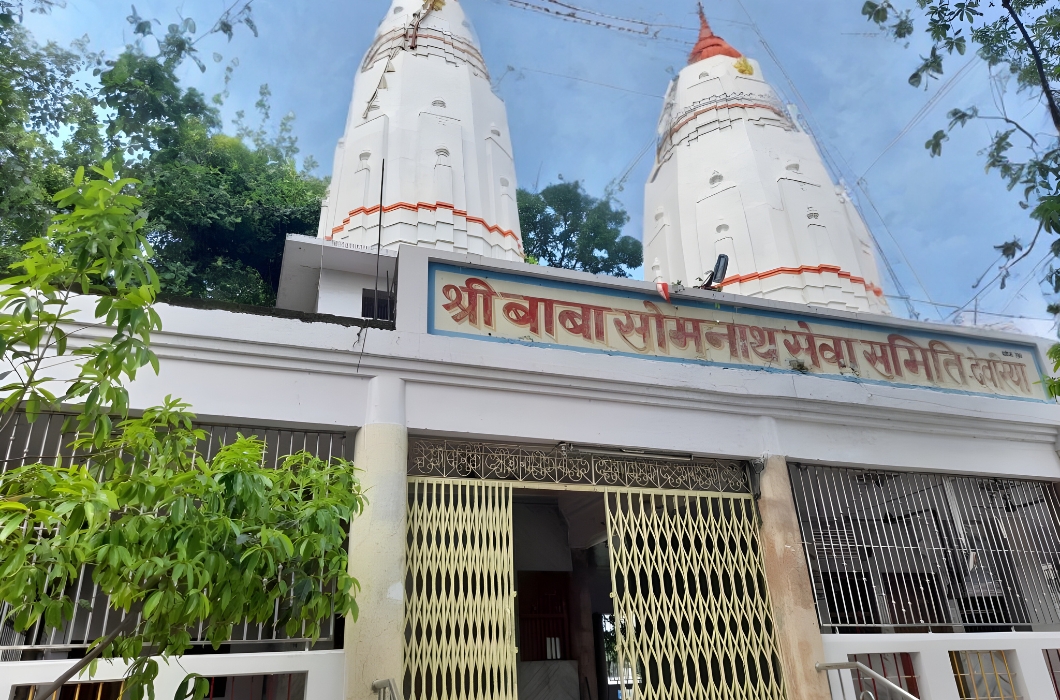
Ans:
<svg viewBox="0 0 1060 700"><path fill-rule="evenodd" d="M638 700L782 700L749 495L606 494L619 678Z"/></svg>

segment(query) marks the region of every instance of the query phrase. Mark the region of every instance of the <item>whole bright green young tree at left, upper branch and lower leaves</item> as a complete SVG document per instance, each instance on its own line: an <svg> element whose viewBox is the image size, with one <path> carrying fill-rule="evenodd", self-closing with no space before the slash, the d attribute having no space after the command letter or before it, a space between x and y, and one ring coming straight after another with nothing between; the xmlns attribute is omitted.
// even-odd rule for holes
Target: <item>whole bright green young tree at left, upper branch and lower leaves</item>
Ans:
<svg viewBox="0 0 1060 700"><path fill-rule="evenodd" d="M16 631L61 628L76 602L70 584L87 566L126 615L82 663L94 670L95 657L121 658L126 693L139 700L154 697L157 657L187 651L191 629L201 626L216 648L234 625L276 611L288 634L310 638L333 606L355 616L344 539L366 501L341 459L299 453L269 469L264 442L240 436L205 460L196 447L206 436L179 400L127 417L123 382L146 364L158 369L148 343L161 327L152 309L159 279L140 202L125 192L136 181L109 162L92 172L100 177L78 170L56 195L66 213L23 246L20 274L0 282L0 348L17 378L2 387L0 414L23 406L32 420L56 407L52 387L65 385L61 400L80 404L74 452L88 455L0 474L0 601ZM82 339L77 325L93 310L91 335L105 330L104 339ZM70 338L80 371L46 377ZM181 692L207 689L189 677Z"/></svg>

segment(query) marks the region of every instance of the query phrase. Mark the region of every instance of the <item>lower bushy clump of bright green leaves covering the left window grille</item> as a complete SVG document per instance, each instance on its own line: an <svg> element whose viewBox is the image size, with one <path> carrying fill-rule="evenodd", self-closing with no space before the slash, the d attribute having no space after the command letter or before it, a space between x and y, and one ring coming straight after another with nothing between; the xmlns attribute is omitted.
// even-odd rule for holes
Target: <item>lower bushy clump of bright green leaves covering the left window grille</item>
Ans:
<svg viewBox="0 0 1060 700"><path fill-rule="evenodd" d="M145 652L179 655L200 625L217 648L235 625L276 610L288 635L312 638L333 602L357 613L343 546L365 504L353 466L303 452L267 469L264 442L243 436L208 462L192 418L167 398L123 421L89 463L0 475L0 599L15 628L60 627L87 565L116 609L142 616L102 653L131 663L132 700L158 672Z"/></svg>

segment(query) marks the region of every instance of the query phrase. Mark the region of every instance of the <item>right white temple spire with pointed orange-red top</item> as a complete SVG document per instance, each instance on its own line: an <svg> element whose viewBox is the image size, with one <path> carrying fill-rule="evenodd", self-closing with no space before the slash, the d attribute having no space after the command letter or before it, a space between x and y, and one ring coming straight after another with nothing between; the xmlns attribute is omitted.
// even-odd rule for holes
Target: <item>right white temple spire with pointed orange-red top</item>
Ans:
<svg viewBox="0 0 1060 700"><path fill-rule="evenodd" d="M644 188L644 260L685 286L729 258L735 294L889 313L872 240L756 60L710 29L670 84ZM647 278L647 270L646 270Z"/></svg>

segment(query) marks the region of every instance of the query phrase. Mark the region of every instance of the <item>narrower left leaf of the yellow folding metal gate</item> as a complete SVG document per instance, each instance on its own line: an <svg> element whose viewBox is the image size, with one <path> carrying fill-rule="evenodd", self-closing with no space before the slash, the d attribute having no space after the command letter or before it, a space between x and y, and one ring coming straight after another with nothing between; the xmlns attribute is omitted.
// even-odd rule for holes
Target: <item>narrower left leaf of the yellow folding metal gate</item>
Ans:
<svg viewBox="0 0 1060 700"><path fill-rule="evenodd" d="M514 700L512 487L410 478L403 692Z"/></svg>

